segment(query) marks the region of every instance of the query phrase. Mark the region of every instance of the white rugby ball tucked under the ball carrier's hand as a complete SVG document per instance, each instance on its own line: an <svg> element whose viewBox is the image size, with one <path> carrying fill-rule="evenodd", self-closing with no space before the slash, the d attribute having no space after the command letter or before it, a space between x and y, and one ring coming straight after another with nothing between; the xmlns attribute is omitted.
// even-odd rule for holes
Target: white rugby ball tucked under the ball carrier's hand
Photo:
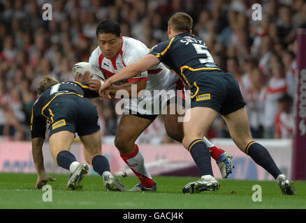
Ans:
<svg viewBox="0 0 306 223"><path fill-rule="evenodd" d="M94 75L92 79L99 79L101 81L105 80L105 75L103 74L103 72L96 66L92 65L91 63L87 62L75 63L75 65L72 68L74 78L78 72L84 75L86 71L89 71L90 75Z"/></svg>

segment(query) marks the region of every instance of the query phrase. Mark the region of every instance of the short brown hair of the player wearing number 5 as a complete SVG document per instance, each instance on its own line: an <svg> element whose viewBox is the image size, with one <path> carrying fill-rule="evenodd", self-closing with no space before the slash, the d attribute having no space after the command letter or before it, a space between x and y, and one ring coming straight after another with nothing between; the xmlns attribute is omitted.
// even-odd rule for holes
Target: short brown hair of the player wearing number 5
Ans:
<svg viewBox="0 0 306 223"><path fill-rule="evenodd" d="M190 32L194 21L187 13L175 13L168 21L173 31Z"/></svg>

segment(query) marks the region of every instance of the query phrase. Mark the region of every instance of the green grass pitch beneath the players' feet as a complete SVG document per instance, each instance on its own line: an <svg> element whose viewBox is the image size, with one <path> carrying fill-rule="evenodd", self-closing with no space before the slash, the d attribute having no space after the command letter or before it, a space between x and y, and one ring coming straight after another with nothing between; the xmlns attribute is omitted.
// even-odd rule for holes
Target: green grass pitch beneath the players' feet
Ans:
<svg viewBox="0 0 306 223"><path fill-rule="evenodd" d="M0 208L80 209L305 209L306 181L296 181L296 196L282 195L275 181L219 180L217 192L183 194L182 187L198 178L155 176L157 192L108 192L100 176L85 176L83 190L66 190L68 175L50 174L52 202L43 201L46 191L35 190L36 174L0 174ZM138 178L121 178L127 189ZM253 185L261 185L262 201L252 201Z"/></svg>

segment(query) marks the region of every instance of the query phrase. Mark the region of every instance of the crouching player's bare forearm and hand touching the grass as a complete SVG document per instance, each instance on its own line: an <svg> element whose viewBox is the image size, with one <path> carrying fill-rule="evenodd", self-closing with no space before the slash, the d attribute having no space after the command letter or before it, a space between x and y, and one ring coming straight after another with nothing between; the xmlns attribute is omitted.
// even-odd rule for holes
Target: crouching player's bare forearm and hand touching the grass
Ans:
<svg viewBox="0 0 306 223"><path fill-rule="evenodd" d="M35 137L32 139L32 155L37 171L36 189L41 189L41 187L46 185L49 180L55 180L51 176L45 174L45 167L43 165L43 140L44 139L41 137Z"/></svg>

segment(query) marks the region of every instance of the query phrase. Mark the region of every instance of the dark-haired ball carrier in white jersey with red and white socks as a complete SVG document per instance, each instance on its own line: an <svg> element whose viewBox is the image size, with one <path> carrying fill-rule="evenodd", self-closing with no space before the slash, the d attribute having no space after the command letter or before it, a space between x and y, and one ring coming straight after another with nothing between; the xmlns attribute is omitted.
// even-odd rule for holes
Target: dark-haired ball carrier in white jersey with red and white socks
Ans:
<svg viewBox="0 0 306 223"><path fill-rule="evenodd" d="M119 24L113 20L103 20L97 26L96 36L99 46L94 49L89 57L89 63L100 68L108 77L115 75L125 66L135 63L150 52L150 49L140 41L122 36ZM83 77L75 76L76 80L87 81L92 90L99 91L101 82L97 79L88 79L88 77L88 74L83 75ZM113 85L108 91L105 91L105 95L110 94L115 97L117 91L126 90L129 92L129 96L133 97L131 95L132 84L137 85L137 95L142 90L147 91L144 91L143 95L138 95L136 102L130 102L124 108L124 114L120 119L115 137L115 146L119 150L122 160L126 162L140 180L140 183L133 187L131 191L156 191L156 182L147 171L143 155L135 142L140 134L154 121L156 116L161 114L159 109L157 109L157 113L154 111L156 106L167 109L167 112L163 112L162 116L168 136L182 142L184 131L182 122L178 121L180 115L177 114L177 111L173 112L175 114L170 114L170 103L179 103L181 101L182 106L184 106L184 84L174 72L171 72L160 63L151 70L126 80L126 83ZM180 91L182 94L154 95L154 90L182 90ZM162 102L165 102L163 97L182 97L183 100L168 100L167 103L162 105ZM166 98L166 101L168 98ZM144 102L150 103L152 107L140 106L140 104L147 105ZM175 105L176 107L177 105ZM207 147L210 148L212 158L217 161L222 177L226 178L233 168L231 155L211 144L205 137L204 141Z"/></svg>

